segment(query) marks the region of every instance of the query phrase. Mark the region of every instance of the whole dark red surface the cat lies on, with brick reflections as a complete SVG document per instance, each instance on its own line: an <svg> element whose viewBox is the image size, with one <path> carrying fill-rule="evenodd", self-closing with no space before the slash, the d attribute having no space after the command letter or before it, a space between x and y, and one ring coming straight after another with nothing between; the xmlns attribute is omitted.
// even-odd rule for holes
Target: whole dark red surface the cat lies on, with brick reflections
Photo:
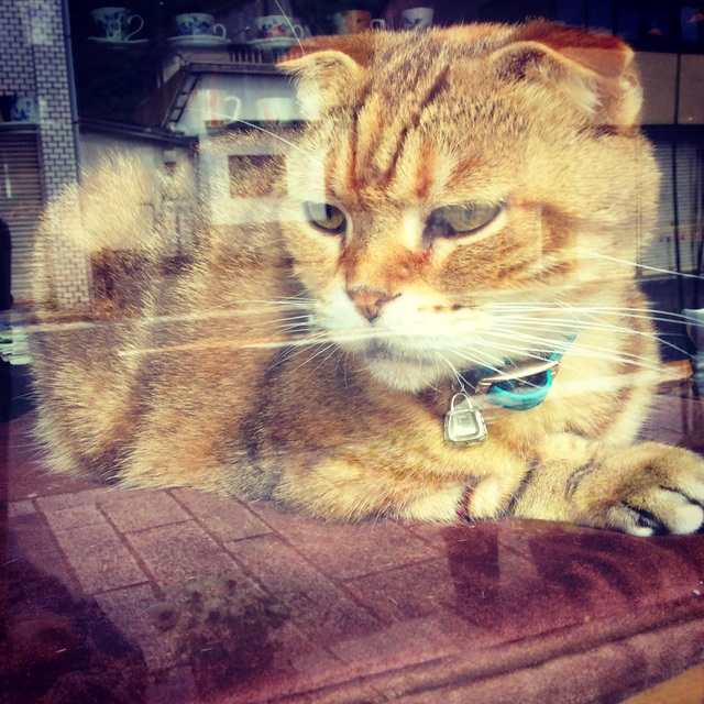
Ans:
<svg viewBox="0 0 704 704"><path fill-rule="evenodd" d="M663 397L649 435L696 446L702 417L697 402ZM41 640L37 618L58 618L68 650L90 652L66 656L59 693L95 685L102 662L113 701L601 704L704 659L704 535L327 525L265 503L47 475L30 425L2 426L6 614L21 626L14 641ZM193 588L216 595L217 616L196 614ZM20 598L30 592L38 607ZM122 649L106 654L106 639ZM7 673L16 658L2 654ZM70 701L52 692L43 701Z"/></svg>

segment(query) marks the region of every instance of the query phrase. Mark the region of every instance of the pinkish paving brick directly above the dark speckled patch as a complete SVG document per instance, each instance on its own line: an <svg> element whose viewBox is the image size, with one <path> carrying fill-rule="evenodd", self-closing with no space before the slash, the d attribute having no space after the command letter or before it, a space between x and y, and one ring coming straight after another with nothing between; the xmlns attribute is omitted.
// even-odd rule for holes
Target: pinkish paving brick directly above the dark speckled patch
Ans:
<svg viewBox="0 0 704 704"><path fill-rule="evenodd" d="M237 568L193 520L131 532L127 539L162 585Z"/></svg>

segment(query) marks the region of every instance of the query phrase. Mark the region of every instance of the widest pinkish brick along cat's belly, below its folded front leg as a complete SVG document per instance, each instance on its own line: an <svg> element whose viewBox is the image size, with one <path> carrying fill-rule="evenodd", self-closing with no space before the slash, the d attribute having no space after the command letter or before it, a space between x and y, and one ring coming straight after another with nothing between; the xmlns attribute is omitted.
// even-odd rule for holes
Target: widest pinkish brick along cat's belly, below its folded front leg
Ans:
<svg viewBox="0 0 704 704"><path fill-rule="evenodd" d="M290 514L280 507L254 504L252 510L274 527L328 576L345 580L438 557L439 552L391 520L353 527Z"/></svg>

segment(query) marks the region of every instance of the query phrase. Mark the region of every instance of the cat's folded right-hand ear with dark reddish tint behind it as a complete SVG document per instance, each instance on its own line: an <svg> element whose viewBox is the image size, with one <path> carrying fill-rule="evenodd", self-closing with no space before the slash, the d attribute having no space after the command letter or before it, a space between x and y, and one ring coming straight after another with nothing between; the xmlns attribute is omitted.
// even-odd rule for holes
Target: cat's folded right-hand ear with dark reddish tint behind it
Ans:
<svg viewBox="0 0 704 704"><path fill-rule="evenodd" d="M491 61L502 77L549 81L595 123L638 122L642 91L632 50L617 36L531 22Z"/></svg>

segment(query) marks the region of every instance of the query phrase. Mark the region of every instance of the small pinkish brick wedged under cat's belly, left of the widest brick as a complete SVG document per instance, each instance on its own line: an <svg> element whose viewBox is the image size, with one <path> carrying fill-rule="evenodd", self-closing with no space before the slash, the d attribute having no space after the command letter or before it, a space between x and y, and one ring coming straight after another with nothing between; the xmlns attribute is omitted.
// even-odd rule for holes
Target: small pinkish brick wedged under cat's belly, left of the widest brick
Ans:
<svg viewBox="0 0 704 704"><path fill-rule="evenodd" d="M198 522L223 542L271 531L266 524L234 498L223 498L190 488L172 490L170 493L188 508Z"/></svg>

